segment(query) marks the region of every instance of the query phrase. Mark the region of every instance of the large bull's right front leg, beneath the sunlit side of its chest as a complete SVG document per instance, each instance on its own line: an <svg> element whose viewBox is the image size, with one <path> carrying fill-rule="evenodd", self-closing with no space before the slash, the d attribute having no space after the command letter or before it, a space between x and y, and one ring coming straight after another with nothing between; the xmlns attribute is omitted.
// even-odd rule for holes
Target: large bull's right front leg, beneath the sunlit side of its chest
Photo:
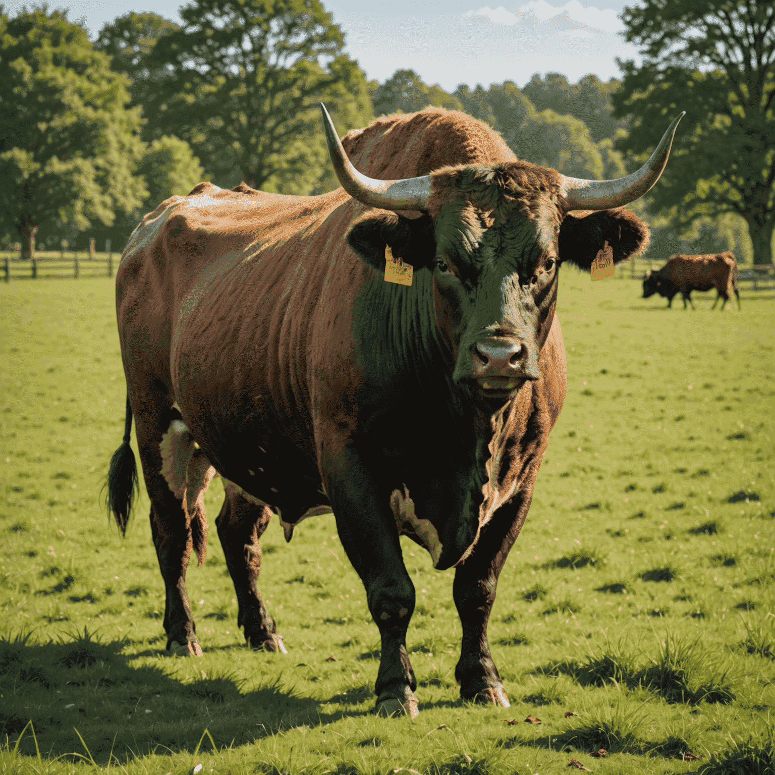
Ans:
<svg viewBox="0 0 775 775"><path fill-rule="evenodd" d="M453 598L463 629L455 677L464 700L509 707L490 652L487 622L495 602L498 576L525 522L530 500L518 494L511 503L499 508L480 533L473 553L455 570Z"/></svg>

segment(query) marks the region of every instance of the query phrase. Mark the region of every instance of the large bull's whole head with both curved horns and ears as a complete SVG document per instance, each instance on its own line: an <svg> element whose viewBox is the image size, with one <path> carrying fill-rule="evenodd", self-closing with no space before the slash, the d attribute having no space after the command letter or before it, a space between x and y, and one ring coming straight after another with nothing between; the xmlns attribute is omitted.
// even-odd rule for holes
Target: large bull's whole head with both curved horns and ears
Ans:
<svg viewBox="0 0 775 775"><path fill-rule="evenodd" d="M356 222L350 246L379 270L390 246L415 270L432 271L436 326L455 360L453 378L475 381L480 396L496 402L540 377L539 352L554 317L560 264L589 271L605 243L614 263L648 243L646 224L621 207L656 183L684 115L639 171L615 181L566 177L522 161L377 181L350 164L322 111L343 188L359 202L393 211ZM424 215L407 219L398 210ZM571 210L598 212L576 216Z"/></svg>

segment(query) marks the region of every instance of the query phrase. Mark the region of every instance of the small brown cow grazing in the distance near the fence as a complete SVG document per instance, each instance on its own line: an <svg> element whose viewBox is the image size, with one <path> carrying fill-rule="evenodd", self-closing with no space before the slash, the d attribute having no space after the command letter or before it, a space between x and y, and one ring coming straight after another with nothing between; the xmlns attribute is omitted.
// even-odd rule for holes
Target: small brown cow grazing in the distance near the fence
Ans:
<svg viewBox="0 0 775 775"><path fill-rule="evenodd" d="M737 308L740 308L740 294L737 290L737 262L735 254L729 250L725 253L707 253L704 256L687 256L676 253L667 259L667 263L657 272L648 270L643 278L643 298L659 293L667 298L667 306L673 304L673 296L678 291L686 302L695 309L691 300L691 291L717 291L716 300L711 309L715 309L718 299L722 298L722 310L729 301L729 289L735 291Z"/></svg>

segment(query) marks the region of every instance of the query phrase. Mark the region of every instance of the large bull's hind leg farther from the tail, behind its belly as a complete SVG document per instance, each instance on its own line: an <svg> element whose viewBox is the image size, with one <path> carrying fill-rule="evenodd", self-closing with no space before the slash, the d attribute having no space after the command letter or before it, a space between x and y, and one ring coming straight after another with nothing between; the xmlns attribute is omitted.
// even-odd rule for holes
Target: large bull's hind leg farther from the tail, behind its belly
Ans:
<svg viewBox="0 0 775 775"><path fill-rule="evenodd" d="M261 547L258 541L267 529L271 516L268 506L250 503L229 483L215 525L218 526L218 536L226 555L226 567L229 568L237 595L237 626L245 629L245 639L254 649L287 654L257 588L261 570Z"/></svg>

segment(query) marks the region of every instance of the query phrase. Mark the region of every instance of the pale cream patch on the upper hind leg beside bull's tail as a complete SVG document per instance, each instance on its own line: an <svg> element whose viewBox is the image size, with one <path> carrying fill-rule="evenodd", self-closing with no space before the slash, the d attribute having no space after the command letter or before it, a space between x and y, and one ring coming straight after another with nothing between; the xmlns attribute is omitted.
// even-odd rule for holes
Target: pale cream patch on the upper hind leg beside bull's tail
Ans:
<svg viewBox="0 0 775 775"><path fill-rule="evenodd" d="M193 515L197 505L205 510L205 492L217 475L205 453L182 420L173 420L161 437L161 475L175 498L184 501L186 512Z"/></svg>

